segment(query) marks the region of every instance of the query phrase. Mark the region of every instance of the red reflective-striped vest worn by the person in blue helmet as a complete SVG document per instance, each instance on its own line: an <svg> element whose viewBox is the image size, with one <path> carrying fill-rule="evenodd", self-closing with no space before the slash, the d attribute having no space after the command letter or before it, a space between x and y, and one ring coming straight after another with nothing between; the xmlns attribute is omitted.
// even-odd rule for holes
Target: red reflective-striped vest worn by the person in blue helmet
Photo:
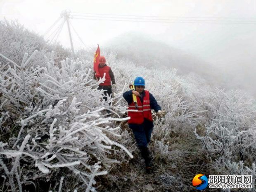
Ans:
<svg viewBox="0 0 256 192"><path fill-rule="evenodd" d="M151 109L150 109L150 101L149 101L149 92L145 90L145 96L143 97L143 103L140 101L140 97L137 97L138 111L128 111L128 116L130 119L128 123L133 124L142 124L144 122L144 118L149 121L153 121ZM135 104L132 102L128 105L128 109L135 109Z"/></svg>

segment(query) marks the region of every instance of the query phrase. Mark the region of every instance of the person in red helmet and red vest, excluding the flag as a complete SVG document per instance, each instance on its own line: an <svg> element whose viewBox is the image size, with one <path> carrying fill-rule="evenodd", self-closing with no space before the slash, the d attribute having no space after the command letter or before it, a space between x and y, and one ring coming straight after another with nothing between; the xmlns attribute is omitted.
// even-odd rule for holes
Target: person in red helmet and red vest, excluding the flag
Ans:
<svg viewBox="0 0 256 192"><path fill-rule="evenodd" d="M100 56L100 58L99 58L99 73L100 74L97 74L95 72L94 79L99 80L99 78L103 78L104 73L106 73L106 75L105 75L106 80L103 83L100 83L98 89L99 90L103 89L105 96L112 95L112 85L115 85L116 81L115 81L113 71L111 70L111 68L109 66L107 66L106 59L103 56ZM112 85L111 85L111 82L112 82ZM107 101L107 97L103 97L103 99L105 101Z"/></svg>

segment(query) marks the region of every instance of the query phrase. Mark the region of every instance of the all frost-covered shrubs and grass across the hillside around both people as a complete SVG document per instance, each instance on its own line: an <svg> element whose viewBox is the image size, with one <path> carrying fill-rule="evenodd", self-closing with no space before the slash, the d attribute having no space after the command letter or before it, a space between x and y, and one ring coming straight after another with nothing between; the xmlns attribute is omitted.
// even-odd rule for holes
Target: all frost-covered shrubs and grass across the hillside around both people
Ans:
<svg viewBox="0 0 256 192"><path fill-rule="evenodd" d="M255 176L256 105L249 95L213 88L196 74L138 67L101 50L117 84L105 102L92 78L94 50L79 50L72 59L69 51L7 21L0 22L0 36L2 191L43 183L52 191L95 191L95 177L127 163L136 149L123 122L119 127L127 119L122 93L136 76L145 78L166 111L164 119L153 111L155 161L178 163L177 145L195 142L189 140L194 134L201 149L193 153L212 171ZM182 142L172 143L174 137Z"/></svg>

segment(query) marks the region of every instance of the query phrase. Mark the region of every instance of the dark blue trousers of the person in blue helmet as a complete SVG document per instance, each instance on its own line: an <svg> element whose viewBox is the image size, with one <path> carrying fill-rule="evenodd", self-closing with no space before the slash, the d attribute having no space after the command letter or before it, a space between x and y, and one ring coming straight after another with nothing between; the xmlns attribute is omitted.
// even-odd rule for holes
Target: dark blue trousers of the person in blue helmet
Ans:
<svg viewBox="0 0 256 192"><path fill-rule="evenodd" d="M137 142L138 147L147 147L147 144L151 140L152 126L147 126L147 123L143 123L142 126L132 128L133 135Z"/></svg>

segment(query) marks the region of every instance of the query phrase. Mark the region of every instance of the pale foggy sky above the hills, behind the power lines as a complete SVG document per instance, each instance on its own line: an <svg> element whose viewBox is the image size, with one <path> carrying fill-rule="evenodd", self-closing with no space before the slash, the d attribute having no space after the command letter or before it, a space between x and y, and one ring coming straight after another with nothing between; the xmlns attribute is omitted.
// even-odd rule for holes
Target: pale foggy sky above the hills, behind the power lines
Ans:
<svg viewBox="0 0 256 192"><path fill-rule="evenodd" d="M256 0L0 0L0 19L17 19L26 28L42 35L64 9L83 13L256 20ZM71 22L83 42L91 47L97 43L104 46L123 33L145 33L152 40L190 52L224 72L239 75L241 80L247 78L247 83L250 77L255 79L256 24L136 23L75 19ZM72 36L75 48L83 48L74 32ZM70 47L66 25L59 42Z"/></svg>

